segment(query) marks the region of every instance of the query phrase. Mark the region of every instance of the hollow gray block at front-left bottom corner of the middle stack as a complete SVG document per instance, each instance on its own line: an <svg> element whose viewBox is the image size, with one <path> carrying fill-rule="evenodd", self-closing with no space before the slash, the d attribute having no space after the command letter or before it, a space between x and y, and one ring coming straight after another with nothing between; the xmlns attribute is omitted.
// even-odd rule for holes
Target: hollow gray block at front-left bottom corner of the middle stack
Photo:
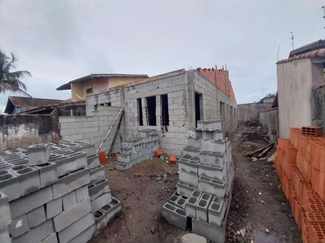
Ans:
<svg viewBox="0 0 325 243"><path fill-rule="evenodd" d="M186 230L187 228L187 217L185 210L178 208L170 203L166 203L163 206L161 214L171 224Z"/></svg>

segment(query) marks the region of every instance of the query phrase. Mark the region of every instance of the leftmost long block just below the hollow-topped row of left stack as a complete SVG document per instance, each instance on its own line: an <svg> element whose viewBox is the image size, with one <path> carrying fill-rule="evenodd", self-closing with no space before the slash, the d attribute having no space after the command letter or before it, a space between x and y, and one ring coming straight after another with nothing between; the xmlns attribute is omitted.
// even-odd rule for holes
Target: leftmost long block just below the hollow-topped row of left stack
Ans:
<svg viewBox="0 0 325 243"><path fill-rule="evenodd" d="M47 186L38 191L29 193L28 195L13 200L9 203L11 217L17 218L23 214L28 213L31 210L41 207L47 204L53 199L52 187Z"/></svg>

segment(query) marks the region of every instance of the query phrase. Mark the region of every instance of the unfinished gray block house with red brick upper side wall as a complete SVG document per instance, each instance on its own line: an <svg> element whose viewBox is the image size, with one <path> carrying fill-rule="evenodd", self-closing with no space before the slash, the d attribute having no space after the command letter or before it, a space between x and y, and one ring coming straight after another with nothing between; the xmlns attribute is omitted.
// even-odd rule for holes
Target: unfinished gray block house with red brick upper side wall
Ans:
<svg viewBox="0 0 325 243"><path fill-rule="evenodd" d="M122 119L114 125L103 151L111 151L113 140L114 151L122 139L155 129L160 148L180 156L187 145L187 130L196 127L198 120L224 119L228 133L237 127L237 103L228 70L179 69L86 96L86 116L59 117L62 140L99 145L125 101Z"/></svg>

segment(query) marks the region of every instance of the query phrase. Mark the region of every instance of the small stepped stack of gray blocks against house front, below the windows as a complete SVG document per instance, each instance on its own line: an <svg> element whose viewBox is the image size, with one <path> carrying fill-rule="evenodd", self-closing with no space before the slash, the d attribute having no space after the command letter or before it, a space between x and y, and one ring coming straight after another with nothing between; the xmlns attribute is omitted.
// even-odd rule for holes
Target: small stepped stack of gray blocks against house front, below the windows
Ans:
<svg viewBox="0 0 325 243"><path fill-rule="evenodd" d="M125 171L139 164L141 161L154 156L159 149L159 135L154 129L138 131L138 136L122 140L120 153L117 155L115 169Z"/></svg>

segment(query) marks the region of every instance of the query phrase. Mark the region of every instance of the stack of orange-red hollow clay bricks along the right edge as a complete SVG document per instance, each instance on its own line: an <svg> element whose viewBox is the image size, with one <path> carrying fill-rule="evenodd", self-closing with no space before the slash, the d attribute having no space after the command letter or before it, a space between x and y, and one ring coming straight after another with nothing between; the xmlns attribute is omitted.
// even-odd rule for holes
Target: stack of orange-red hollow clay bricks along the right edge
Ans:
<svg viewBox="0 0 325 243"><path fill-rule="evenodd" d="M278 139L275 168L304 243L325 243L325 136Z"/></svg>

